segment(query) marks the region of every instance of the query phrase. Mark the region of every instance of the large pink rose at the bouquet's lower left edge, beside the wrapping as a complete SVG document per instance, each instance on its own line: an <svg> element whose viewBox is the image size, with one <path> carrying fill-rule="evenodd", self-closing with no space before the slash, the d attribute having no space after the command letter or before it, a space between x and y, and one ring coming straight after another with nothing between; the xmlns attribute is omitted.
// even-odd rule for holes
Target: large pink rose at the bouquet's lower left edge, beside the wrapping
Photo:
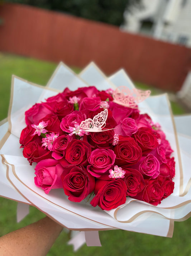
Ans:
<svg viewBox="0 0 191 256"><path fill-rule="evenodd" d="M37 163L34 170L36 175L34 183L37 187L44 189L46 194L51 189L62 188L61 174L64 169L59 164L59 161L54 159L42 160Z"/></svg>

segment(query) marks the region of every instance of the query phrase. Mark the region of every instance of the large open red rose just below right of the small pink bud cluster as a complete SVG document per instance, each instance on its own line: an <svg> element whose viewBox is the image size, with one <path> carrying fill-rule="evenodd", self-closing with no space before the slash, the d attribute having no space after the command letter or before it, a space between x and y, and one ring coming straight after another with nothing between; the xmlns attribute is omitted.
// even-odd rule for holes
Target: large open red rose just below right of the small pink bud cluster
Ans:
<svg viewBox="0 0 191 256"><path fill-rule="evenodd" d="M142 150L133 138L119 136L118 144L113 148L116 154L116 165L130 166L142 157Z"/></svg>

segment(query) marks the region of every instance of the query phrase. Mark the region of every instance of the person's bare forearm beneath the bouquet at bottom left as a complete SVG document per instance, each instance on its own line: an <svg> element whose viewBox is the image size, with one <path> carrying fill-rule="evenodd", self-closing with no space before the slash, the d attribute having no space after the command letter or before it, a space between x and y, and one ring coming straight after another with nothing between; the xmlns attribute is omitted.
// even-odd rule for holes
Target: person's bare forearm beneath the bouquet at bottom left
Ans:
<svg viewBox="0 0 191 256"><path fill-rule="evenodd" d="M62 231L62 226L45 217L0 238L2 256L44 256Z"/></svg>

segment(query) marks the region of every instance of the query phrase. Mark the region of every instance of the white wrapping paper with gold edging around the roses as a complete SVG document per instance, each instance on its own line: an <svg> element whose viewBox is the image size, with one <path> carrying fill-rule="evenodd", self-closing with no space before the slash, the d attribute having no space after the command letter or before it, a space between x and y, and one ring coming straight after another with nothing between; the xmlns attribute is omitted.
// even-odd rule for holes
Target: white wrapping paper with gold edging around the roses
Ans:
<svg viewBox="0 0 191 256"><path fill-rule="evenodd" d="M62 189L53 189L47 195L34 185L35 164L29 166L19 144L20 133L25 127L24 112L65 87L76 90L87 84L95 85L99 90L121 85L134 86L123 70L107 78L94 63L79 76L60 63L46 87L13 76L8 122L0 126L1 134L4 134L0 142L0 196L33 205L71 230L124 229L172 237L173 222L185 220L191 215L191 116L174 119L166 94L151 96L139 104L141 112L148 113L154 122L161 124L174 150L175 189L160 205L127 198L123 206L102 211L85 201L69 201Z"/></svg>

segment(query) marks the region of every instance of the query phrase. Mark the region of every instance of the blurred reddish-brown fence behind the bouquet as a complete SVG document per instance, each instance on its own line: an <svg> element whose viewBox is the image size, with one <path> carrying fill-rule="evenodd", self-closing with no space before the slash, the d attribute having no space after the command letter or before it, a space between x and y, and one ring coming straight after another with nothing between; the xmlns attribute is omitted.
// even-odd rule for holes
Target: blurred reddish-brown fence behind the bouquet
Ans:
<svg viewBox="0 0 191 256"><path fill-rule="evenodd" d="M124 68L134 81L180 90L191 49L120 31L118 27L27 5L0 6L0 51L71 66L94 61L106 74Z"/></svg>

